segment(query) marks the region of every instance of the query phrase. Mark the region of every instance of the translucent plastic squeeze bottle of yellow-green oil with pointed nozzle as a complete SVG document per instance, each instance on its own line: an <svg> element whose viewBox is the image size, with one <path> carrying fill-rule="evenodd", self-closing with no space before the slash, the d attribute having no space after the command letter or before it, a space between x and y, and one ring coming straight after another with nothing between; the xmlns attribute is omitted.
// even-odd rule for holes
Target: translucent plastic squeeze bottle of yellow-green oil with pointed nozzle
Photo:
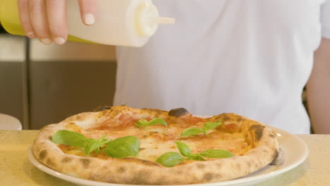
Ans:
<svg viewBox="0 0 330 186"><path fill-rule="evenodd" d="M173 24L173 18L159 17L152 0L98 0L94 25L84 25L78 0L66 0L68 40L118 46L143 46L159 24ZM16 0L0 0L0 22L12 35L25 35L20 25Z"/></svg>

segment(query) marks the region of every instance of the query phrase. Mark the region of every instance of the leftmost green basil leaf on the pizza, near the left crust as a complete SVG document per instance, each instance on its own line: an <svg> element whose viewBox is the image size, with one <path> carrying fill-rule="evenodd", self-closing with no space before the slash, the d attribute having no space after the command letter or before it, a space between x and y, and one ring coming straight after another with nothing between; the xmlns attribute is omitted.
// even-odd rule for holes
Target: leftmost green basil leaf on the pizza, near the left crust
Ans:
<svg viewBox="0 0 330 186"><path fill-rule="evenodd" d="M72 147L84 147L87 137L70 130L59 130L53 135L51 141L56 144L65 144Z"/></svg>

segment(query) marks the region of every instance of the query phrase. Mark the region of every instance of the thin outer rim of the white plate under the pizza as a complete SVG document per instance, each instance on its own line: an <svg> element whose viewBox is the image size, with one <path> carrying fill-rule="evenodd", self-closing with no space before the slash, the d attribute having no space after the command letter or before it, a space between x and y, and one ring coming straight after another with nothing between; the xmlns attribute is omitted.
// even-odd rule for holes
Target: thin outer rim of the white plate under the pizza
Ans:
<svg viewBox="0 0 330 186"><path fill-rule="evenodd" d="M269 126L273 130L275 130L276 133L279 135L288 135L289 137L293 137L296 141L299 142L300 145L302 145L302 149L304 150L305 154L302 154L300 156L300 159L295 160L294 163L289 164L286 167L280 168L276 171L266 173L264 175L253 175L251 177L243 177L243 178L237 178L234 180L227 180L224 182L209 182L209 183L197 183L197 184L190 184L190 185L166 185L166 186L226 186L226 185L238 185L242 184L244 182L257 182L258 180L269 180L271 178L274 178L277 175L281 175L282 173L285 173L287 171L292 170L293 168L299 166L302 162L304 162L307 159L307 156L309 155L309 149L307 147L307 144L297 135L292 135L289 132L280 130L278 128L274 128ZM284 151L284 153L286 153ZM91 185L91 186L143 186L143 185L126 185L126 184L118 184L118 183L110 183L110 182L97 182L92 180L85 180L82 178L77 178L71 175L66 175L64 173L60 173L58 171L55 171L47 166L45 166L43 163L39 162L35 158L35 154L32 152L32 146L30 146L27 150L27 159L29 159L30 163L32 163L33 166L38 168L40 171L43 171L44 173L48 173L49 175L52 175L56 178L60 178L61 180L66 180L68 182L72 182L74 184L78 185ZM146 185L146 186L159 186L159 185Z"/></svg>

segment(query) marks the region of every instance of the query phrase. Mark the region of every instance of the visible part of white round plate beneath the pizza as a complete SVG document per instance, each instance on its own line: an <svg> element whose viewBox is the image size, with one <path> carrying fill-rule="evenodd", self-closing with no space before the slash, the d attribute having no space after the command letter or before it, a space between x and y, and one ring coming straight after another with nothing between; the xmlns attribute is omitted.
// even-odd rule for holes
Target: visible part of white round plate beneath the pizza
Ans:
<svg viewBox="0 0 330 186"><path fill-rule="evenodd" d="M274 178L276 175L280 175L285 173L286 171L290 171L291 169L299 166L300 163L305 161L308 156L308 149L304 141L300 140L299 137L295 135L291 135L288 132L284 132L283 130L279 130L274 128L274 130L279 135L279 144L283 150L283 154L285 157L285 162L281 166L266 166L261 170L247 175L243 178L238 178L236 180L229 180L224 182L212 182L206 184L195 184L195 185L185 185L185 186L248 186L248 185L256 185L260 182L264 182L269 180L270 178ZM294 149L294 150L293 150ZM61 178L63 180L67 180L68 182L73 182L76 185L90 185L90 186L128 186L123 184L113 184L106 182L96 182L90 180L84 180L80 178L75 178L71 175L65 175L63 173L59 173L54 171L44 164L40 163L35 159L34 154L32 153L32 149L29 148L28 159L30 162L39 168L41 171L53 175L57 178ZM133 185L129 185L133 186ZM141 185L139 185L141 186Z"/></svg>

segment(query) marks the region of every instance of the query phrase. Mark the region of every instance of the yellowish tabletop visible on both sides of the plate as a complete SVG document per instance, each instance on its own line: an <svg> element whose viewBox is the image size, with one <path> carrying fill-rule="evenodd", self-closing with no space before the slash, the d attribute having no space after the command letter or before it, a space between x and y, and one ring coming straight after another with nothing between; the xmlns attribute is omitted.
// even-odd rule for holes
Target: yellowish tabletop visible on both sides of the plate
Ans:
<svg viewBox="0 0 330 186"><path fill-rule="evenodd" d="M37 130L0 130L0 185L73 185L39 171L27 159ZM330 135L298 135L310 149L306 161L258 186L330 185Z"/></svg>

